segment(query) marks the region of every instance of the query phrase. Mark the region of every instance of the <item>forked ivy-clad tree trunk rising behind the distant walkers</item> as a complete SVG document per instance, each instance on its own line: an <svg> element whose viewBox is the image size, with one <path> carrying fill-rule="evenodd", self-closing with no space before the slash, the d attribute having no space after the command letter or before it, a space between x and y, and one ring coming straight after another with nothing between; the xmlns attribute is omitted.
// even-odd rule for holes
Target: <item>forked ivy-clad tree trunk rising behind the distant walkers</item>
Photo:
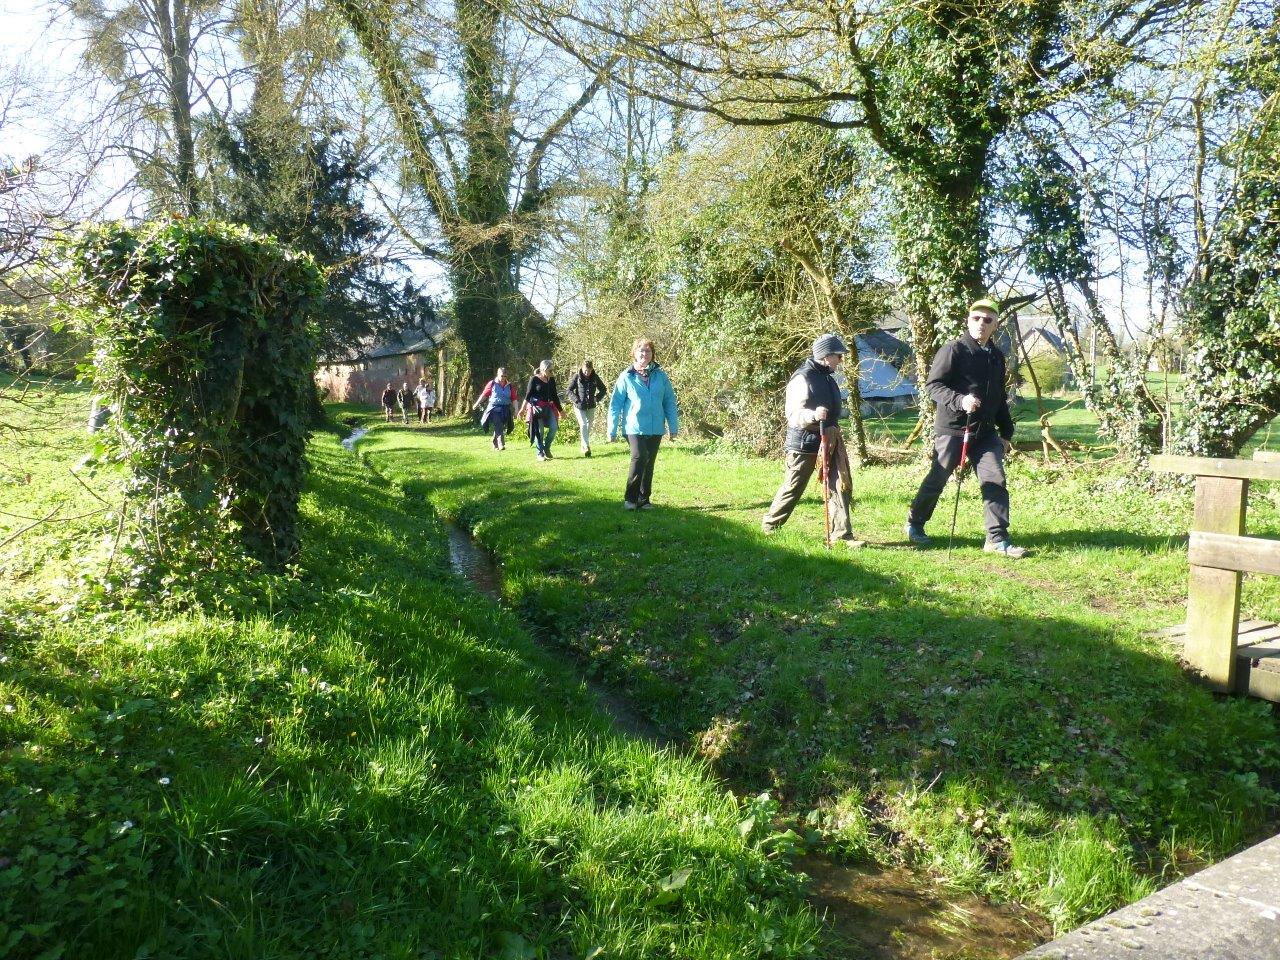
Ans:
<svg viewBox="0 0 1280 960"><path fill-rule="evenodd" d="M457 47L440 59L457 64L461 123L447 128L412 65L422 51L407 47L399 29L411 12L385 0L330 1L378 78L408 175L444 238L439 256L448 266L470 385L479 392L497 366L548 352L550 328L521 294L520 270L540 237L550 197L543 160L595 96L600 77L540 136L517 138L512 102L521 78L503 46L507 9L502 0L456 0Z"/></svg>

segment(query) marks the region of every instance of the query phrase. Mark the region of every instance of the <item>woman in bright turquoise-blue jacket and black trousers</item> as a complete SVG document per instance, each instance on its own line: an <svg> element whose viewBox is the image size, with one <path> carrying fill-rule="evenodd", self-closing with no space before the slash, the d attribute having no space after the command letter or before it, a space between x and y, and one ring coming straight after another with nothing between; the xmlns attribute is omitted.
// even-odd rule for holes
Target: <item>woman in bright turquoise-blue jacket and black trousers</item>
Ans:
<svg viewBox="0 0 1280 960"><path fill-rule="evenodd" d="M639 339L631 346L635 362L618 374L609 402L609 443L618 430L631 444L631 470L622 498L623 509L652 509L653 465L658 458L662 434L675 440L680 431L676 392L667 374L653 358L653 340Z"/></svg>

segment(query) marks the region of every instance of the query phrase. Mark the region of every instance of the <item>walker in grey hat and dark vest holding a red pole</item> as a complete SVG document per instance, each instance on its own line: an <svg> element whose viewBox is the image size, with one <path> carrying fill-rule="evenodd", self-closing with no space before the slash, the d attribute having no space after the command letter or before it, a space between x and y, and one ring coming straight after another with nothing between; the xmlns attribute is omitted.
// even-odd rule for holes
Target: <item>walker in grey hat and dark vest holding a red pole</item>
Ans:
<svg viewBox="0 0 1280 960"><path fill-rule="evenodd" d="M840 438L840 385L836 371L849 347L833 333L827 333L813 342L813 356L791 375L787 381L786 419L787 435L783 444L782 486L769 512L764 515L760 526L765 534L772 534L791 516L809 477L818 468L818 451L823 431L827 435L828 467L827 490L831 504L831 536L850 547L863 544L854 539L849 521L849 503L852 492L852 477L849 470L849 454Z"/></svg>

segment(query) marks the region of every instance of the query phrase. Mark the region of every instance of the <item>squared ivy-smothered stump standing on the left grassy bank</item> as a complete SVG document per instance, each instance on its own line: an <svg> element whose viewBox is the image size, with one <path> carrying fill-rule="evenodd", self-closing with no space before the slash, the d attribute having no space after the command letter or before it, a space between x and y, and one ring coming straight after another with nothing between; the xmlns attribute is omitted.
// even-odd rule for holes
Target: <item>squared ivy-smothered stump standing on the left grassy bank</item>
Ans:
<svg viewBox="0 0 1280 960"><path fill-rule="evenodd" d="M131 471L129 582L206 570L228 541L283 566L298 549L315 262L242 227L182 219L96 225L63 253L63 298L115 410L100 452Z"/></svg>

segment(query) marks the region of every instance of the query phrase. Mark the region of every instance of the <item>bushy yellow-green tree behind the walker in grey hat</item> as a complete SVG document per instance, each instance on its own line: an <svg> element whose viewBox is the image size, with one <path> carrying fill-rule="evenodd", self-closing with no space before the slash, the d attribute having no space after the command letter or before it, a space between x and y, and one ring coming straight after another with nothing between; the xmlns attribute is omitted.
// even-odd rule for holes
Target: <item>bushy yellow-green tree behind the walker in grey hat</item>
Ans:
<svg viewBox="0 0 1280 960"><path fill-rule="evenodd" d="M855 335L884 300L870 274L876 180L867 145L812 127L716 127L666 165L650 202L686 342L673 376L700 376L685 392L690 404L705 397L712 411L740 421L739 433L756 428L744 439L776 449L787 375L818 334L838 332L852 351L850 443L864 461Z"/></svg>

